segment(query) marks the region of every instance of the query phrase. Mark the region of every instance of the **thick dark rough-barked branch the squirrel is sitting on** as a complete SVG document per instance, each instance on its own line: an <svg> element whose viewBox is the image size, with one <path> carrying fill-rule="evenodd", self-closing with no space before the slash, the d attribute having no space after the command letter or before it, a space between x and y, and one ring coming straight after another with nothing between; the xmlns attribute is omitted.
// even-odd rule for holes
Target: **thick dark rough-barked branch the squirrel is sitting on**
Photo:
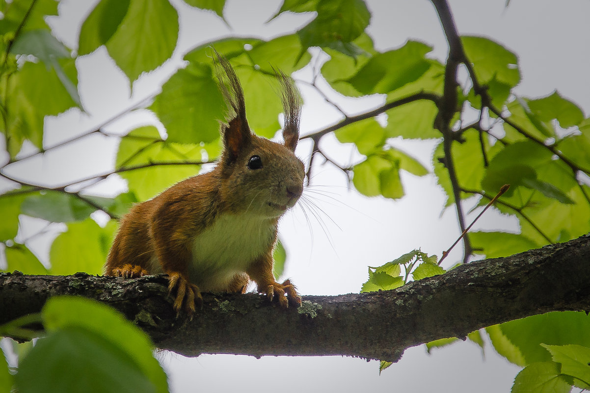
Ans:
<svg viewBox="0 0 590 393"><path fill-rule="evenodd" d="M204 294L194 319L176 318L166 277L0 274L0 323L35 313L50 296L77 294L119 309L156 346L183 355L350 355L396 361L405 348L464 338L508 320L590 310L590 236L459 266L399 289L304 296L280 309L258 294Z"/></svg>

